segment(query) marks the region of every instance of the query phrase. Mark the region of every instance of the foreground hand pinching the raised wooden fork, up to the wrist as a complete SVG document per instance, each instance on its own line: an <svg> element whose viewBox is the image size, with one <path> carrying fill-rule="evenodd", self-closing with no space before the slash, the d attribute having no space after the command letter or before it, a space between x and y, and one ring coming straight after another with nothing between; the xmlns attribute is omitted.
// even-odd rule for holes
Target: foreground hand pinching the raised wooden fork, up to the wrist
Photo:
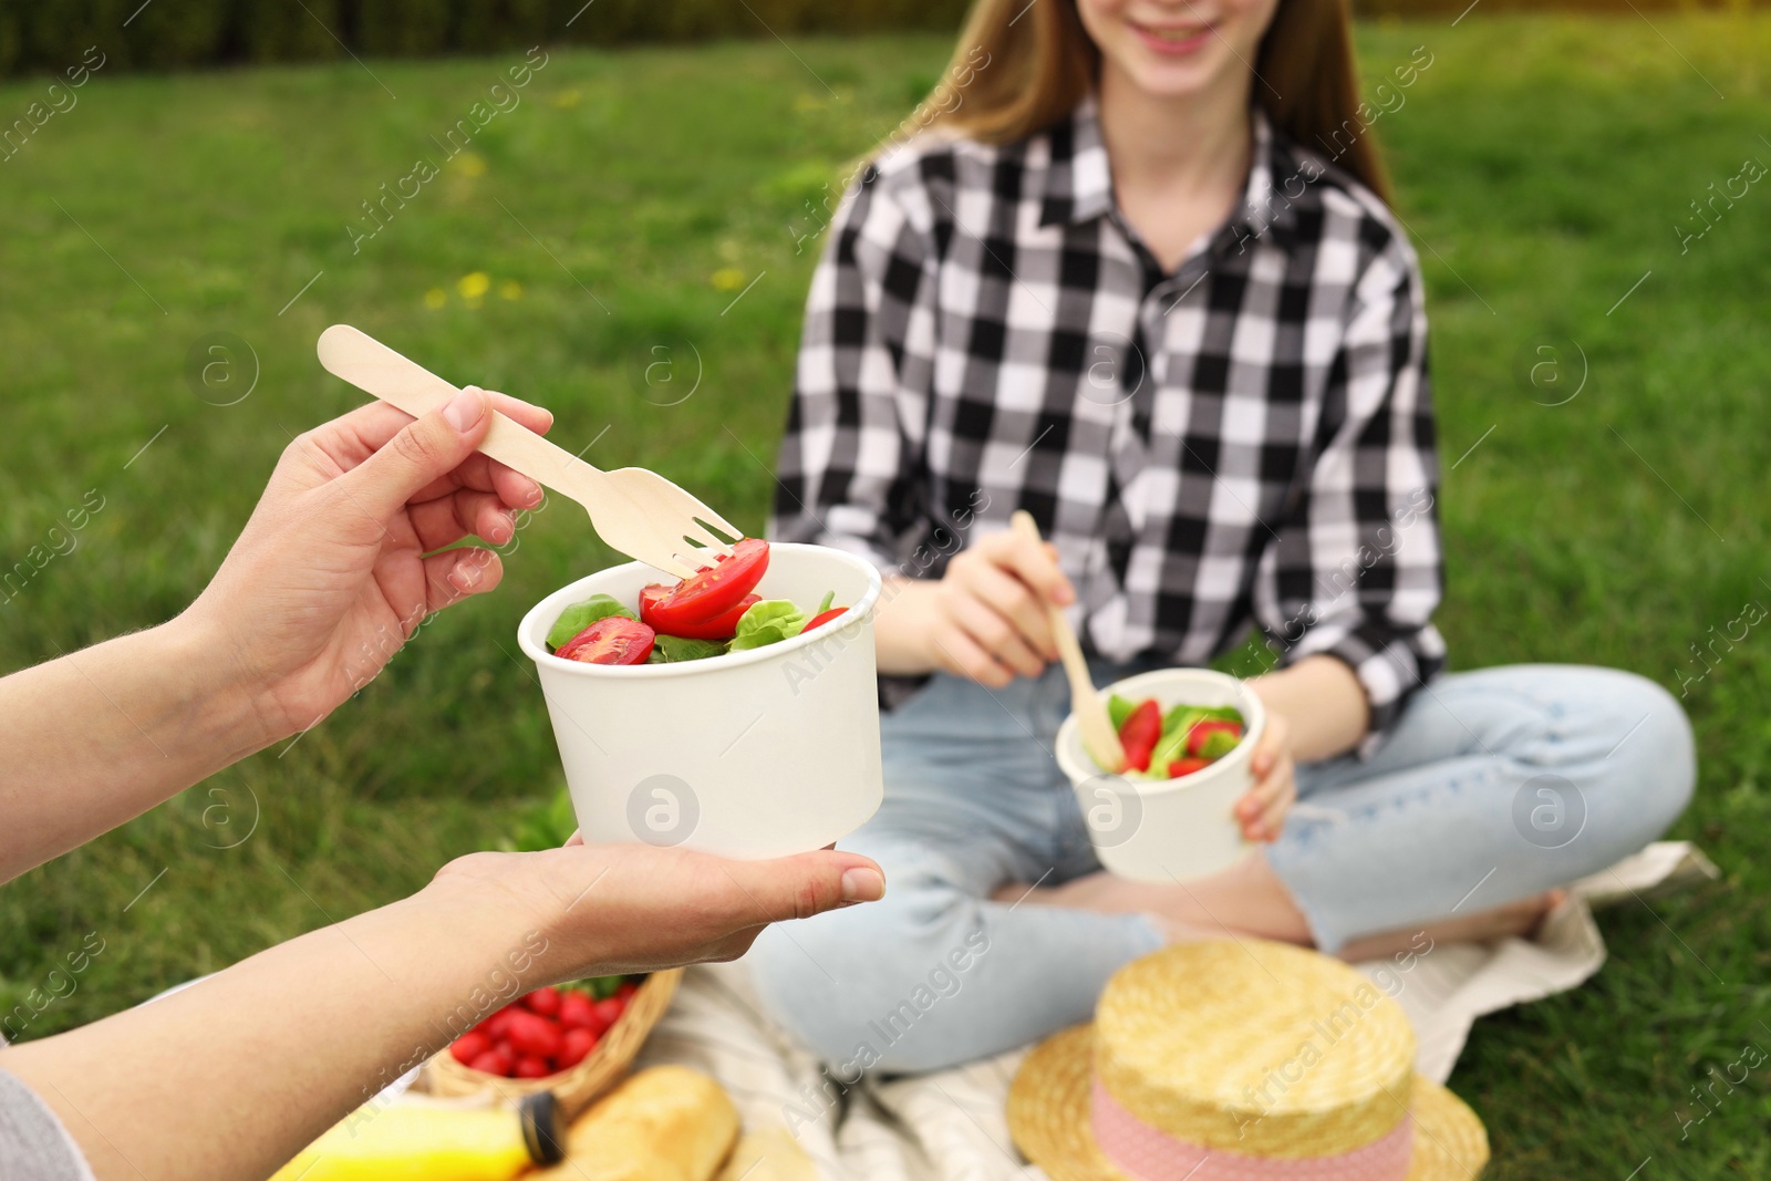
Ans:
<svg viewBox="0 0 1771 1181"><path fill-rule="evenodd" d="M540 487L475 452L496 407L545 432L547 411L468 388L413 420L375 402L283 452L246 529L181 616L250 698L266 742L313 726L368 683L432 611L498 586L498 554L434 551L515 531ZM429 556L427 556L429 554Z"/></svg>

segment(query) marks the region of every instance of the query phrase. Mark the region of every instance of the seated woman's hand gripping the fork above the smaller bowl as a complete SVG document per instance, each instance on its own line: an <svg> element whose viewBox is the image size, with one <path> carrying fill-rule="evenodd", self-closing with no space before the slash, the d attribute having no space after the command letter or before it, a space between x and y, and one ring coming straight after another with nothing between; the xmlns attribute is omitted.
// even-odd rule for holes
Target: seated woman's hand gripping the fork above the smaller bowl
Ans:
<svg viewBox="0 0 1771 1181"><path fill-rule="evenodd" d="M882 673L933 669L1002 689L1057 659L1048 604L1077 600L1050 544L994 533L940 581L894 581L877 621Z"/></svg>

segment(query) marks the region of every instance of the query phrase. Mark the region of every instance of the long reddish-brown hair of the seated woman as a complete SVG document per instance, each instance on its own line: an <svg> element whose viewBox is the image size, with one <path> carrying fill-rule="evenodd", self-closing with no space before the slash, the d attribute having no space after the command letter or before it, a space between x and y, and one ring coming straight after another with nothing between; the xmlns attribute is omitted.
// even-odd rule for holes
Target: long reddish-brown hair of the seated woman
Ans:
<svg viewBox="0 0 1771 1181"><path fill-rule="evenodd" d="M1279 0L1254 69L1256 101L1275 127L1390 200L1378 145L1358 117L1348 0ZM978 0L921 122L1008 143L1070 115L1098 74L1100 50L1075 0Z"/></svg>

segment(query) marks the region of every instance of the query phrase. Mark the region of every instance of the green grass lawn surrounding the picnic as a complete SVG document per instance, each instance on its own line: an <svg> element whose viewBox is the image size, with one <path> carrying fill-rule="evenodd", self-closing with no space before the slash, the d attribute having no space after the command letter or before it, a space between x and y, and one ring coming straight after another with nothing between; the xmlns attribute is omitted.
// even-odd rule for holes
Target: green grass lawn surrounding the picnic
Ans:
<svg viewBox="0 0 1771 1181"><path fill-rule="evenodd" d="M1771 18L1473 14L1360 42L1373 80L1433 55L1376 129L1431 287L1452 660L1585 660L1682 689L1702 779L1677 836L1725 871L1606 912L1597 979L1482 1022L1452 1085L1488 1121L1495 1177L1771 1176L1771 1068L1691 1096L1744 1046L1771 1052L1771 637L1739 621L1771 604L1771 186L1718 202L1684 246L1674 228L1702 228L1691 202L1743 161L1771 163ZM101 71L0 163L0 568L67 551L0 591L0 668L161 621L202 588L278 452L360 400L313 359L336 320L545 402L574 448L597 439L602 464L657 466L760 528L806 202L946 48L560 51L446 165L432 136L521 55ZM0 120L43 90L0 87ZM352 248L361 204L420 158L441 174ZM188 375L211 333L255 354L236 349L232 386ZM655 361L677 384L646 384ZM253 368L250 397L218 405ZM51 533L89 492L85 528ZM0 1011L89 933L103 953L27 1036L496 845L560 781L517 618L607 561L577 508L538 513L501 593L429 625L324 726L0 891Z"/></svg>

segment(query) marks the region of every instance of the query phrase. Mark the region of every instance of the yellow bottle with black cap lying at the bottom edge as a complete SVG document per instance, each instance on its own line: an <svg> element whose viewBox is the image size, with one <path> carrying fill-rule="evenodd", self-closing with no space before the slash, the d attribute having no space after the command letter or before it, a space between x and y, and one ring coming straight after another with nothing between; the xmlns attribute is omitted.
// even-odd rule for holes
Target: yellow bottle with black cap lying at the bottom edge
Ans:
<svg viewBox="0 0 1771 1181"><path fill-rule="evenodd" d="M510 1181L561 1156L547 1092L524 1098L517 1110L395 1103L354 1112L271 1181Z"/></svg>

